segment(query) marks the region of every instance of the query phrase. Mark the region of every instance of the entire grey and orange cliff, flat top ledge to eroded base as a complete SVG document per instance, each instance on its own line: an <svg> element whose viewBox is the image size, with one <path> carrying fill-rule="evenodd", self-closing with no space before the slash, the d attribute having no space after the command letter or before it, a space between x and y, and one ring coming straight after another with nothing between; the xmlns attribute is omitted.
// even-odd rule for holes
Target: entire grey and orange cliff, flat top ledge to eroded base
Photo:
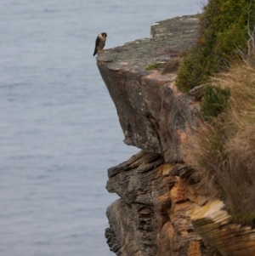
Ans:
<svg viewBox="0 0 255 256"><path fill-rule="evenodd" d="M108 170L106 189L120 196L106 212L105 237L116 255L213 255L190 221L207 202L195 188L187 153L199 102L174 85L174 65L195 43L197 25L196 16L157 22L151 38L97 58L124 142L142 150Z"/></svg>

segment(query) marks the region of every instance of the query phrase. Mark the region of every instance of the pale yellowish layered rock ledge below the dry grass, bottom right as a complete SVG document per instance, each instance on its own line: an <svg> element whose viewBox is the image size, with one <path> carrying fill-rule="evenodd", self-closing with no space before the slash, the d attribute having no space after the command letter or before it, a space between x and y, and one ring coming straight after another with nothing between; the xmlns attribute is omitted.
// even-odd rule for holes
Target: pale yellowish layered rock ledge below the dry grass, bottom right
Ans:
<svg viewBox="0 0 255 256"><path fill-rule="evenodd" d="M197 209L191 218L195 231L207 246L215 247L222 255L255 255L255 230L231 224L231 216L224 208L224 202L214 200Z"/></svg>

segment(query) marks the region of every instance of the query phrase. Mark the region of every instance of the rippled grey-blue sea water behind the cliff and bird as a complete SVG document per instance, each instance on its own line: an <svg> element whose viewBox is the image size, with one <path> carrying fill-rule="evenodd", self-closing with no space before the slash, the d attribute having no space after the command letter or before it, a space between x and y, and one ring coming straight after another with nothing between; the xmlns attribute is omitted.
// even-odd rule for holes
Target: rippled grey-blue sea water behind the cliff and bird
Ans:
<svg viewBox="0 0 255 256"><path fill-rule="evenodd" d="M0 255L114 255L105 241L107 168L124 145L93 57L201 12L200 0L1 0Z"/></svg>

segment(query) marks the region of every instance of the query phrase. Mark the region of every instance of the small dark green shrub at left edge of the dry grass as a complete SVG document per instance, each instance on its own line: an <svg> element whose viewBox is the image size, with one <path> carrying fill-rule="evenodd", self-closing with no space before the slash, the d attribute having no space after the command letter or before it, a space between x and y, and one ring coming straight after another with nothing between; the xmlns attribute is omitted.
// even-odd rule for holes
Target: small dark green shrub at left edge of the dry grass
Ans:
<svg viewBox="0 0 255 256"><path fill-rule="evenodd" d="M201 102L199 117L205 121L208 121L211 117L218 117L227 107L229 96L229 88L207 85L204 88L204 97Z"/></svg>

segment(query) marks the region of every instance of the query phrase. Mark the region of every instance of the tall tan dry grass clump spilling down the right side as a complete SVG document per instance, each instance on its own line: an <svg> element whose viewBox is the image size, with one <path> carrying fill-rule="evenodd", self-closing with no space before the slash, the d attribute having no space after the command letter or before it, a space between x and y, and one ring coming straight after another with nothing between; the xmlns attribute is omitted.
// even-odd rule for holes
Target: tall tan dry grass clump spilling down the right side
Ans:
<svg viewBox="0 0 255 256"><path fill-rule="evenodd" d="M235 65L213 78L231 89L228 108L204 123L195 137L193 155L202 183L216 188L234 219L243 224L255 219L255 68Z"/></svg>

